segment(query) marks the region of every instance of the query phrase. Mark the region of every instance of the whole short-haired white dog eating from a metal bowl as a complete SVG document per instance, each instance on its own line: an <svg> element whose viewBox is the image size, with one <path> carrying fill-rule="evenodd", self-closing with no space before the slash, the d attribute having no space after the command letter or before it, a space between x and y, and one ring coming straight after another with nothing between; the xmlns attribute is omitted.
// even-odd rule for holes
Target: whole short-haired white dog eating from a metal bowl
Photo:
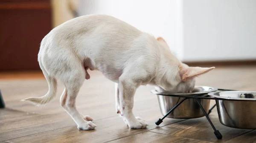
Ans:
<svg viewBox="0 0 256 143"><path fill-rule="evenodd" d="M52 29L38 53L38 62L49 84L42 97L23 100L46 104L56 95L57 80L65 85L61 106L79 129L94 129L89 116L76 109L76 96L87 70L99 70L116 83L116 112L131 129L148 124L134 117L134 93L140 85L151 84L174 93L191 92L195 77L215 67L188 67L169 50L162 38L143 33L137 28L107 15L86 15L74 18Z"/></svg>

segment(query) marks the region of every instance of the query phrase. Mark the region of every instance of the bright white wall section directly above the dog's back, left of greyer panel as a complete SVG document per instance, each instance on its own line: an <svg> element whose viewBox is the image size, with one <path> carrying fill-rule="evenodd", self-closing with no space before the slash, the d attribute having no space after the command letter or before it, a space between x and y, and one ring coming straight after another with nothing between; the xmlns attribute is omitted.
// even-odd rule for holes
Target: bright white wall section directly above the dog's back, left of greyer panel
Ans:
<svg viewBox="0 0 256 143"><path fill-rule="evenodd" d="M177 1L179 0L80 0L79 15L108 14L119 18L155 37L162 36L176 54L179 50Z"/></svg>

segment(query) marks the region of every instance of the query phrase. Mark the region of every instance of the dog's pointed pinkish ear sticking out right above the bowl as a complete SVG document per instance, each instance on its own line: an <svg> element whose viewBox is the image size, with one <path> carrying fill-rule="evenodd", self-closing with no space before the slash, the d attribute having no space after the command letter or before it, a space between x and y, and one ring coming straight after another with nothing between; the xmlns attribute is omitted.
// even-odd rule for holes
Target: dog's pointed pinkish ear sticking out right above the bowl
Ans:
<svg viewBox="0 0 256 143"><path fill-rule="evenodd" d="M208 73L213 69L215 69L215 67L183 67L180 70L180 77L183 82L186 82L190 78L194 78L204 73Z"/></svg>

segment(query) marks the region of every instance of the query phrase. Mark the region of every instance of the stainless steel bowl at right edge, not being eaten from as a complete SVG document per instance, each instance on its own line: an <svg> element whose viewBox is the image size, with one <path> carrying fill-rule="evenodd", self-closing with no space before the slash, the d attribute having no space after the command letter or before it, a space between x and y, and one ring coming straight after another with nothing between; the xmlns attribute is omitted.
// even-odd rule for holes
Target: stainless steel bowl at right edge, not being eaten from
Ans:
<svg viewBox="0 0 256 143"><path fill-rule="evenodd" d="M256 129L255 91L212 92L208 95L220 99L215 101L221 124L238 129Z"/></svg>

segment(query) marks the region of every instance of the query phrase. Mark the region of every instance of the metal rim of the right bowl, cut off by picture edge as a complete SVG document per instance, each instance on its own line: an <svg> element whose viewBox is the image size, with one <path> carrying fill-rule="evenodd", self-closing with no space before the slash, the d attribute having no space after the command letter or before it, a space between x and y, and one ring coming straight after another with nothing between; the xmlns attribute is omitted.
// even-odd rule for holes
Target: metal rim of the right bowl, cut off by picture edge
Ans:
<svg viewBox="0 0 256 143"><path fill-rule="evenodd" d="M238 91L215 91L208 93L210 97L218 98L218 99L227 99L227 100L236 100L236 101L256 101L256 98L231 98L231 97L224 97L224 96L219 96L216 95L217 93L256 93L256 91L243 91L243 90L238 90ZM218 100L216 99L216 100Z"/></svg>

